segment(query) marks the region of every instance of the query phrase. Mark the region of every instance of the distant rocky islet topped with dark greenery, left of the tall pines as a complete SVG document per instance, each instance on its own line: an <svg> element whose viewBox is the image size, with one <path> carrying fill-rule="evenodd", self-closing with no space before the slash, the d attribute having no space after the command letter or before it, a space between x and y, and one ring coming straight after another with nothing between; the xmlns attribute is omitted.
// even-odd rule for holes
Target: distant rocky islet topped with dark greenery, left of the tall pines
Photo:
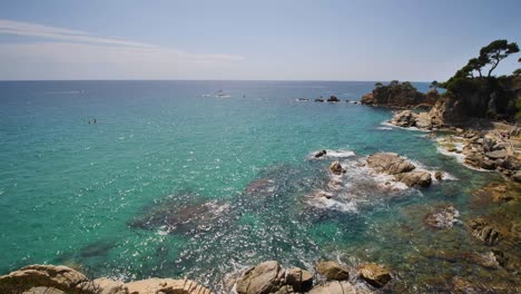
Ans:
<svg viewBox="0 0 521 294"><path fill-rule="evenodd" d="M407 81L402 84L392 81L389 86L376 87L373 92L364 95L361 102L364 105L392 107L432 106L435 102L435 97L434 92L425 95L417 91Z"/></svg>

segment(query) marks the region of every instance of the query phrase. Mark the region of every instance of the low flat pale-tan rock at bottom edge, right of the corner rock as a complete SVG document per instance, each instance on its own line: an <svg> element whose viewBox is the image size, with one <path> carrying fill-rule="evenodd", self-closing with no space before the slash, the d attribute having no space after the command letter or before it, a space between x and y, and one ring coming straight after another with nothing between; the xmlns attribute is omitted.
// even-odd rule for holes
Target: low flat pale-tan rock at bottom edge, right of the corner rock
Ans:
<svg viewBox="0 0 521 294"><path fill-rule="evenodd" d="M210 294L212 292L190 280L148 278L125 284L128 294Z"/></svg>

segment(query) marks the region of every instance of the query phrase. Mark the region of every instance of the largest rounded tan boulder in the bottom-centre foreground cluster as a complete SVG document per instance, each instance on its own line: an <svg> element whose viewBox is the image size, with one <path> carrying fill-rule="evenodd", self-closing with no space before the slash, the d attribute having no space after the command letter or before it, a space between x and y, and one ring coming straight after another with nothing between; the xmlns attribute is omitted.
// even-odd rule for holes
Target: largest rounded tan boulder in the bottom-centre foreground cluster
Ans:
<svg viewBox="0 0 521 294"><path fill-rule="evenodd" d="M238 294L268 294L277 292L284 284L285 271L275 262L265 262L246 271L237 281Z"/></svg>

